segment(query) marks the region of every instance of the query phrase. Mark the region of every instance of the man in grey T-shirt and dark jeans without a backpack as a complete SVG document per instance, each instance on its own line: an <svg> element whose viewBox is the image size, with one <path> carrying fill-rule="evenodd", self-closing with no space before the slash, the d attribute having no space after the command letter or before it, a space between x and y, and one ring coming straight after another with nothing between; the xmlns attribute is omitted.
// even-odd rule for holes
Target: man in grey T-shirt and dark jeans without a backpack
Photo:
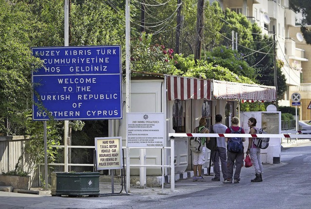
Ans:
<svg viewBox="0 0 311 209"><path fill-rule="evenodd" d="M216 124L212 125L210 130L213 130L215 134L224 134L228 128L222 124L223 116L218 114L215 116ZM219 159L222 166L222 173L224 180L227 179L227 153L225 147L225 137L216 137L217 148L216 150L211 151L212 161L214 163L214 173L215 177L212 178L212 181L220 181L220 166Z"/></svg>

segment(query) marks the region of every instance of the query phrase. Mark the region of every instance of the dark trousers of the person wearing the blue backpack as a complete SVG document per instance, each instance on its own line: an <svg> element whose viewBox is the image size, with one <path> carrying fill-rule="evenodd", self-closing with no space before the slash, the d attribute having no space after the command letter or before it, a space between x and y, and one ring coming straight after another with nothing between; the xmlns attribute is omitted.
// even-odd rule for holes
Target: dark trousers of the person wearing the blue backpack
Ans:
<svg viewBox="0 0 311 209"><path fill-rule="evenodd" d="M232 180L233 176L233 165L235 163L235 172L234 172L234 179L240 180L240 173L243 165L243 158L244 158L244 152L241 153L235 153L235 152L227 152L227 179Z"/></svg>

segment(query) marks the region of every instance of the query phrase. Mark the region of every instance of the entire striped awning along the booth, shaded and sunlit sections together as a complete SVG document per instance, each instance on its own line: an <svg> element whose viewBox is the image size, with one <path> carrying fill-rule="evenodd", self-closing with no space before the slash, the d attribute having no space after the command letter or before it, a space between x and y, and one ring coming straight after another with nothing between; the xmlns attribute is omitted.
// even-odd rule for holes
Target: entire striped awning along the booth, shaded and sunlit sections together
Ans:
<svg viewBox="0 0 311 209"><path fill-rule="evenodd" d="M169 101L175 99L276 101L276 87L171 75L167 75L166 79Z"/></svg>

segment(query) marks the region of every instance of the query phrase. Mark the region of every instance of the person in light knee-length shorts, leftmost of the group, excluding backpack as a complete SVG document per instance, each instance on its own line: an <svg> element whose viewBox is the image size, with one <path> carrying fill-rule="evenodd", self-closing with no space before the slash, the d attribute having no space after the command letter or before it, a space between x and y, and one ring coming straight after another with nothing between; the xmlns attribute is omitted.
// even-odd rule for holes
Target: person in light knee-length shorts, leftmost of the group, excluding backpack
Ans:
<svg viewBox="0 0 311 209"><path fill-rule="evenodd" d="M202 134L208 134L209 130L205 126L206 119L201 118L199 121L199 126L194 129L193 133L200 133L203 129L205 129ZM206 140L209 141L209 137L201 137L201 152L192 152L192 164L194 173L193 181L205 181L202 177L202 165L205 163Z"/></svg>

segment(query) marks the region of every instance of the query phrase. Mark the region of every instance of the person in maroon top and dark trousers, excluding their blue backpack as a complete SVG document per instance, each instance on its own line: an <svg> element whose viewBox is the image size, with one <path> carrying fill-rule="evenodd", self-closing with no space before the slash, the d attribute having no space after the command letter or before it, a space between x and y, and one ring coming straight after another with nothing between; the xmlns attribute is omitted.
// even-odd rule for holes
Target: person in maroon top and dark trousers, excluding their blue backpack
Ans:
<svg viewBox="0 0 311 209"><path fill-rule="evenodd" d="M232 131L231 131L231 129ZM245 131L242 127L239 126L239 118L233 117L231 119L231 126L227 128L225 134L231 134L233 132L240 131L241 134L245 134ZM225 138L225 141L228 144L229 138ZM242 142L245 141L245 138L242 138ZM227 150L227 179L223 181L223 183L232 183L232 176L233 176L233 165L235 163L235 172L234 172L234 183L240 182L240 173L243 166L243 158L244 158L244 150L242 146L242 150L240 152L231 152Z"/></svg>

